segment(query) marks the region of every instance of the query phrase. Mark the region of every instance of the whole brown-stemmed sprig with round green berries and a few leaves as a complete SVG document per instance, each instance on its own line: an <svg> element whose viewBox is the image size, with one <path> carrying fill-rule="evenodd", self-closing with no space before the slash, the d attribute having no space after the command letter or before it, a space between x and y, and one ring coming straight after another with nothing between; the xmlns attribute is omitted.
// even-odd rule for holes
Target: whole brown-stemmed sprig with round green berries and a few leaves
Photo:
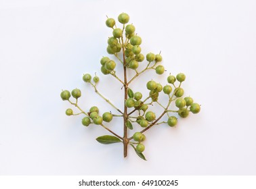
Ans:
<svg viewBox="0 0 256 189"><path fill-rule="evenodd" d="M98 107L93 106L89 108L89 111L83 111L78 105L78 99L81 97L81 90L75 88L70 93L68 90L62 90L60 97L63 101L68 101L74 107L79 109L79 113L73 112L72 109L66 109L66 115L80 115L85 117L82 119L83 126L89 126L95 124L102 126L102 128L108 130L112 135L105 135L96 138L96 140L102 144L112 144L116 142L122 142L124 146L124 157L127 156L127 146L131 145L135 149L135 153L146 160L142 152L145 150L144 140L146 136L144 132L159 124L167 124L170 127L177 125L177 115L179 117L188 117L189 113L198 113L200 111L200 105L194 103L191 97L183 97L184 89L181 87L182 82L186 80L186 76L183 73L177 74L177 76L169 75L167 77L167 84L163 86L154 80L150 80L146 83L145 88L149 90L148 96L143 97L142 92L133 92L130 85L141 74L148 70L154 70L156 74L164 74L165 68L161 65L163 60L161 53L147 53L146 60L142 53L142 38L135 33L135 26L133 24L127 24L129 22L129 15L122 13L118 17L118 21L121 24L121 28L116 26L116 21L113 18L106 20L106 26L112 28L112 36L108 38L108 46L106 51L110 55L114 55L114 59L109 57L102 57L100 59L101 72L104 75L111 75L116 80L119 80L124 90L124 106L123 110L117 108L112 101L106 99L97 88L97 84L100 81L98 76L94 76L93 79L90 74L83 75L83 81L90 84L95 92L102 97L113 109L119 114L113 114L105 112L102 115ZM123 80L116 75L116 61L119 61L123 65ZM146 63L145 63L146 62ZM142 68L138 71L139 66ZM130 71L129 71L130 70ZM131 79L127 80L127 74L133 74ZM162 105L158 100L159 95L167 96L167 105ZM74 97L75 102L70 101L70 97ZM175 102L177 109L171 109L171 103ZM154 104L163 108L163 112L160 115L156 115L148 108ZM164 117L166 115L167 118ZM116 132L108 128L108 123L112 121L113 117L123 118L123 137L116 134ZM161 119L165 121L160 121ZM128 136L128 131L133 130L133 126L139 126L142 130L135 132L132 136Z"/></svg>

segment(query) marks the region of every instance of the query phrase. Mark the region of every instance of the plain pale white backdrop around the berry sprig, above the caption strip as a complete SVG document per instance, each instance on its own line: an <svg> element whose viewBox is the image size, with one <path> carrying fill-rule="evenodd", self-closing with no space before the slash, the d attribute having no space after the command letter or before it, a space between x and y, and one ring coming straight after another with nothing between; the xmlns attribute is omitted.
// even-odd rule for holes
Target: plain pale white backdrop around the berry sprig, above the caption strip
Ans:
<svg viewBox="0 0 256 189"><path fill-rule="evenodd" d="M0 174L255 175L255 9L249 0L1 0ZM122 107L121 84L100 73L100 58L111 35L106 15L123 11L142 36L142 52L162 51L168 70L145 74L133 90L146 96L148 80L166 84L170 72L184 72L186 95L202 105L176 128L146 132L148 161L132 148L123 159L122 144L96 142L108 132L66 116L70 105L60 99L62 89L77 87L85 111L110 111L81 80L97 72L100 92ZM122 127L121 119L110 126L119 134Z"/></svg>

